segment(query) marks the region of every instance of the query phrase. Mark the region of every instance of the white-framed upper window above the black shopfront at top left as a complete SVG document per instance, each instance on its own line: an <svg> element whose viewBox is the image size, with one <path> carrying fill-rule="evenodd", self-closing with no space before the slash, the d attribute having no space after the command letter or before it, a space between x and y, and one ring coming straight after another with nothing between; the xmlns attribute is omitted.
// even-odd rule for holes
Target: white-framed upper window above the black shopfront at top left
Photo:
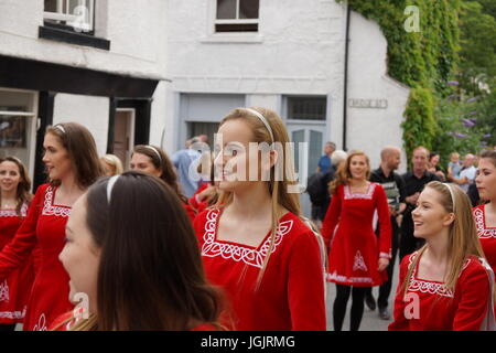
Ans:
<svg viewBox="0 0 496 353"><path fill-rule="evenodd" d="M45 23L63 24L76 32L94 31L95 0L44 0Z"/></svg>

